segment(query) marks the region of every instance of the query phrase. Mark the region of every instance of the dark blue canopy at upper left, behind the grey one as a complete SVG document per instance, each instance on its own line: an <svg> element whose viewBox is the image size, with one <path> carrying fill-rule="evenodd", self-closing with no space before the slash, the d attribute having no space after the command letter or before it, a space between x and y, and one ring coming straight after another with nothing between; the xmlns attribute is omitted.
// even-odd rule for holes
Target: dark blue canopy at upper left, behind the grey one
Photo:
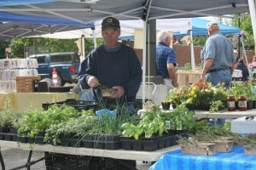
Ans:
<svg viewBox="0 0 256 170"><path fill-rule="evenodd" d="M74 20L0 12L0 38L29 37L58 31L95 27Z"/></svg>

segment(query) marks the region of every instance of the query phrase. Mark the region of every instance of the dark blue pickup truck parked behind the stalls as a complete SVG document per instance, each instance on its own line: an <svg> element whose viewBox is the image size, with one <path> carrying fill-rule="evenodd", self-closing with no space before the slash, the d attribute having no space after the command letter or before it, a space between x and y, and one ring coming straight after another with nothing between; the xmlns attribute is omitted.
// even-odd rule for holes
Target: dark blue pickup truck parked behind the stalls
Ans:
<svg viewBox="0 0 256 170"><path fill-rule="evenodd" d="M77 82L80 59L77 53L34 54L29 58L38 60L38 75L52 78L53 68L57 71L60 85L65 82Z"/></svg>

